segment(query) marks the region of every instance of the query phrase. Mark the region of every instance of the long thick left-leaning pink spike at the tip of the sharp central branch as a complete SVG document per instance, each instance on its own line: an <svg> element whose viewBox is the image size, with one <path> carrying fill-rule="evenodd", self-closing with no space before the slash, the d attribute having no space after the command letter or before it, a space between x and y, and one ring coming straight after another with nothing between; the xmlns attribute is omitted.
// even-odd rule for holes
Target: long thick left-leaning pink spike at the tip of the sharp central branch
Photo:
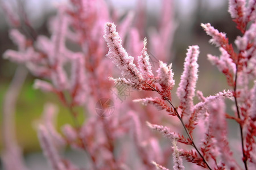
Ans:
<svg viewBox="0 0 256 170"><path fill-rule="evenodd" d="M104 38L108 44L109 52L106 57L114 59L115 65L121 70L123 78L135 84L142 82L143 76L139 73L138 68L134 65L134 58L128 56L122 46L122 41L113 23L105 24Z"/></svg>

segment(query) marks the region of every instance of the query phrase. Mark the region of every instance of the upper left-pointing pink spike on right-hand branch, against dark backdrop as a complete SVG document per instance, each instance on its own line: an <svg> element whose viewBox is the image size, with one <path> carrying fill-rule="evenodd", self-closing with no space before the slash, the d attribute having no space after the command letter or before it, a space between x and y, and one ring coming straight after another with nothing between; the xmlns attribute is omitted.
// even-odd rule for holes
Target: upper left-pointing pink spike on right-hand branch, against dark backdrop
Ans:
<svg viewBox="0 0 256 170"><path fill-rule="evenodd" d="M215 44L216 46L228 44L228 39L226 38L226 34L222 32L218 32L218 30L212 27L210 23L207 23L207 24L201 23L201 27L204 28L204 31L207 33L207 35L212 37L212 39L210 39L209 41L210 43Z"/></svg>

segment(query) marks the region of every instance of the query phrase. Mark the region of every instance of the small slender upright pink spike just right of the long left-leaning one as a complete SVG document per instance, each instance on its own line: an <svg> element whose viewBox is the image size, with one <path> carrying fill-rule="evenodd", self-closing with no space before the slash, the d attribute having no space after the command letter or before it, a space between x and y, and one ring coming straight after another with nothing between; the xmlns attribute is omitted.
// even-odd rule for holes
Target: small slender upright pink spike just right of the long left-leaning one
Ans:
<svg viewBox="0 0 256 170"><path fill-rule="evenodd" d="M149 56L147 54L147 39L146 37L144 38L143 41L144 48L142 49L142 54L141 56L138 57L138 66L139 66L139 71L141 71L142 75L144 78L148 79L153 76L152 69L151 69L151 64L149 62Z"/></svg>

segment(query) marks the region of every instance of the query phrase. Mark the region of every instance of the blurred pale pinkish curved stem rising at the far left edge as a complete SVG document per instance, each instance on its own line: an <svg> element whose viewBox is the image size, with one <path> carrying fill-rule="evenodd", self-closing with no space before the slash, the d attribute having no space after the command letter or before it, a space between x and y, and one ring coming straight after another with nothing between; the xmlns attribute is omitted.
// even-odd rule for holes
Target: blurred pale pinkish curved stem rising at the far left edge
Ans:
<svg viewBox="0 0 256 170"><path fill-rule="evenodd" d="M26 76L27 70L23 66L19 66L3 100L3 152L1 156L6 170L27 170L22 160L22 151L15 136L15 106Z"/></svg>

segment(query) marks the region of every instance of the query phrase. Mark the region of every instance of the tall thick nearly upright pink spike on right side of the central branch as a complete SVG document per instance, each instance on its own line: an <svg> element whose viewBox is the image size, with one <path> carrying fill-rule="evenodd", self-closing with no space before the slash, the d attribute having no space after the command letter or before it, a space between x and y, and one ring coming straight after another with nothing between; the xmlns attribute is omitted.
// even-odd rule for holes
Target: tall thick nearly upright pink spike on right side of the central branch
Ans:
<svg viewBox="0 0 256 170"><path fill-rule="evenodd" d="M193 97L195 96L195 88L197 81L199 56L199 46L189 46L187 57L184 62L184 71L181 75L179 87L177 88L177 97L180 99L180 107L183 108L181 117L192 114L193 112Z"/></svg>

